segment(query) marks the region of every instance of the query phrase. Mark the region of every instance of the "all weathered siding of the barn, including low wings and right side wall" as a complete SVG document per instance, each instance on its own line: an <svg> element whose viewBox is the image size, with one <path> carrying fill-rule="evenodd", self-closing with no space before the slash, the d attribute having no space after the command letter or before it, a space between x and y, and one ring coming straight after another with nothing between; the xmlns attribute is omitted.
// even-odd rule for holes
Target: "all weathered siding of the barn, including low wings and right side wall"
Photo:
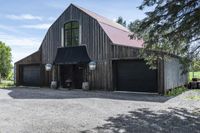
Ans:
<svg viewBox="0 0 200 133"><path fill-rule="evenodd" d="M84 81L89 81L91 89L113 90L113 60L138 59L139 49L112 44L97 20L73 5L70 5L49 28L40 50L16 63L16 78L21 73L20 65L40 64L41 83L49 86L52 72L45 71L45 64L54 62L57 48L62 47L64 24L74 20L80 24L80 45L85 45L90 58L97 62L96 70L89 71L88 67L84 69ZM177 60L158 62L158 92L162 93L164 89L185 83L186 76L180 76L179 67ZM59 67L57 69L59 70Z"/></svg>

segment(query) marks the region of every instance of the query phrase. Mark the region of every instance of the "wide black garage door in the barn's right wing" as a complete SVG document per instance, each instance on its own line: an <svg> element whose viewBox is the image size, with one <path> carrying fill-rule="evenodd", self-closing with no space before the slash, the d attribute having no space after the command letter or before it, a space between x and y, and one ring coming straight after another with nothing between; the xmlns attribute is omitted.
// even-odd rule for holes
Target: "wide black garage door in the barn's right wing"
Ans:
<svg viewBox="0 0 200 133"><path fill-rule="evenodd" d="M118 91L157 92L157 71L143 60L116 61L115 83Z"/></svg>

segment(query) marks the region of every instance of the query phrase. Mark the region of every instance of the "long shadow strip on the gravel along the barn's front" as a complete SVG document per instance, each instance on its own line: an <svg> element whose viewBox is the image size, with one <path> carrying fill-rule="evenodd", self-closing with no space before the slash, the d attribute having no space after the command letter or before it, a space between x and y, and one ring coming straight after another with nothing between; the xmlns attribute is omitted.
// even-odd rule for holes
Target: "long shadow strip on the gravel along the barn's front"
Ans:
<svg viewBox="0 0 200 133"><path fill-rule="evenodd" d="M136 94L109 91L82 91L82 90L51 90L32 88L12 88L9 89L9 96L15 99L73 99L73 98L103 98L116 100L132 100L147 102L165 102L170 97L158 94Z"/></svg>

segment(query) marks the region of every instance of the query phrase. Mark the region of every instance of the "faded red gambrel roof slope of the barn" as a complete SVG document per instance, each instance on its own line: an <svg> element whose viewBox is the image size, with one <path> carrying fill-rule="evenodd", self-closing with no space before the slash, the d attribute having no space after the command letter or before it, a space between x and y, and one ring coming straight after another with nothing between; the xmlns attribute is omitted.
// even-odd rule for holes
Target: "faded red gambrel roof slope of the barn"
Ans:
<svg viewBox="0 0 200 133"><path fill-rule="evenodd" d="M87 15L91 16L95 20L97 20L100 26L105 31L105 33L111 39L113 44L137 48L143 47L143 40L130 39L129 35L133 33L131 33L127 28L123 27L122 25L113 22L112 20L109 20L103 16L100 16L94 12L91 12L87 9L84 9L74 4L72 5L78 8L79 10L83 11Z"/></svg>

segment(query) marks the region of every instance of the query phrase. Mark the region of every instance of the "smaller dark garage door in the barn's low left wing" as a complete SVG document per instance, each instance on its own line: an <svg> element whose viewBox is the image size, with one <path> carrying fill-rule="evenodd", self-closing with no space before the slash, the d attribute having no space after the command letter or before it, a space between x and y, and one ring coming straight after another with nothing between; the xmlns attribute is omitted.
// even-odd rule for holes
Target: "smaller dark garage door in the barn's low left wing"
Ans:
<svg viewBox="0 0 200 133"><path fill-rule="evenodd" d="M23 67L23 85L39 86L40 85L40 66Z"/></svg>

